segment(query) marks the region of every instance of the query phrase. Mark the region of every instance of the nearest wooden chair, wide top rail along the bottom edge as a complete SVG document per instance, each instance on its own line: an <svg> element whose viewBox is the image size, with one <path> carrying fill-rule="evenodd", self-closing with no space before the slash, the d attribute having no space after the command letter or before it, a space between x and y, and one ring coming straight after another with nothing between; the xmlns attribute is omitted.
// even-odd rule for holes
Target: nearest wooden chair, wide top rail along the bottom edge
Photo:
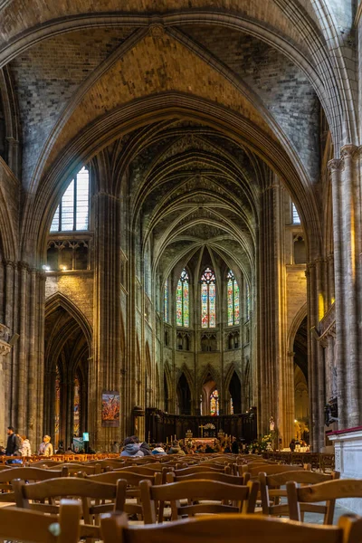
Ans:
<svg viewBox="0 0 362 543"><path fill-rule="evenodd" d="M341 517L338 526L319 526L231 514L129 527L127 516L115 512L102 516L101 532L104 543L224 543L235 538L238 543L357 543L362 520L349 515Z"/></svg>

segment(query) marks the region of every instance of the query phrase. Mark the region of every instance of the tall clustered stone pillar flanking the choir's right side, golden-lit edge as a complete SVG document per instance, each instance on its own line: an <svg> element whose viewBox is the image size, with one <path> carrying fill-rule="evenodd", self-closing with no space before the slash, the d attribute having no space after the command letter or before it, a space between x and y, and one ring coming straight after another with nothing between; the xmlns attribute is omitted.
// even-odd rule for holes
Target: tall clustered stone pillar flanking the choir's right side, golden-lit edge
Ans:
<svg viewBox="0 0 362 543"><path fill-rule="evenodd" d="M259 428L269 433L271 416L282 443L290 443L293 432L293 365L287 357L285 266L283 253L282 190L271 176L261 195L258 240L259 320Z"/></svg>

